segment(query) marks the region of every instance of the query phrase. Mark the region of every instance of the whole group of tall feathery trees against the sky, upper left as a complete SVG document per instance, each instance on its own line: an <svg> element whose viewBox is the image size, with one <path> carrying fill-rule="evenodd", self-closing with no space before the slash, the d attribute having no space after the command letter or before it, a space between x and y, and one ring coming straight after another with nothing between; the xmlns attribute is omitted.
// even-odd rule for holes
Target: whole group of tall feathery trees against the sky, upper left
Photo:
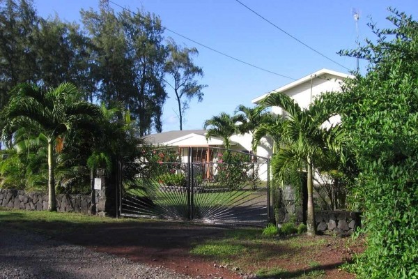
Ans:
<svg viewBox="0 0 418 279"><path fill-rule="evenodd" d="M193 78L203 71L191 63L195 49L175 47L172 40L164 45L164 27L151 13L115 13L100 2L98 11L82 10L77 24L40 17L32 0L0 1L0 110L20 83L52 88L70 82L84 100L123 102L142 136L162 130L165 75L183 72L176 83L178 93L185 92L183 109L192 96L201 100L204 86ZM166 61L179 68L165 68Z"/></svg>

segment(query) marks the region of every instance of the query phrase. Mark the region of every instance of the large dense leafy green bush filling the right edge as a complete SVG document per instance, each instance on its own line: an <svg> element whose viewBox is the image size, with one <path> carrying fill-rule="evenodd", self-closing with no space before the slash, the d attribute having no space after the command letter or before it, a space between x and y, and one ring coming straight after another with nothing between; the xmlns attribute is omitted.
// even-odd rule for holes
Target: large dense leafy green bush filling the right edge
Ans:
<svg viewBox="0 0 418 279"><path fill-rule="evenodd" d="M369 70L332 98L360 170L353 198L367 248L353 270L362 278L418 278L418 22L392 13L394 29L369 24L376 43L341 52Z"/></svg>

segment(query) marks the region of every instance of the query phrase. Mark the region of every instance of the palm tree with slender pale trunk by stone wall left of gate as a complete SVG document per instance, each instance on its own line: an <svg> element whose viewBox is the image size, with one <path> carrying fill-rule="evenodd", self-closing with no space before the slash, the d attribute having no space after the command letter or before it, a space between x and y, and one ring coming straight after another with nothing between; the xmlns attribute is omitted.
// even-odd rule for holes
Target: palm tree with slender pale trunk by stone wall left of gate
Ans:
<svg viewBox="0 0 418 279"><path fill-rule="evenodd" d="M12 145L17 130L38 133L47 142L48 160L48 210L56 211L54 179L54 146L61 135L70 129L91 127L100 116L96 105L83 100L77 88L62 83L56 88L42 90L31 84L20 84L13 89L9 103L3 109L6 125L1 131L2 140ZM59 146L57 146L59 147Z"/></svg>

